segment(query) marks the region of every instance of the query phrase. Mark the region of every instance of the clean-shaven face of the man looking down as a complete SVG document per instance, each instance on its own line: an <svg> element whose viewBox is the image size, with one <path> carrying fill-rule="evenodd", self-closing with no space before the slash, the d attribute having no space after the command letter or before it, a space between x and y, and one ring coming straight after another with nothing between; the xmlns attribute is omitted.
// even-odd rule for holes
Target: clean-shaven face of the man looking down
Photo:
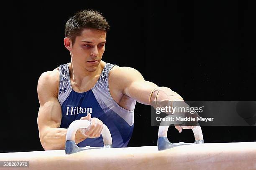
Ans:
<svg viewBox="0 0 256 170"><path fill-rule="evenodd" d="M105 43L105 31L84 29L72 45L72 62L87 71L94 72L105 51Z"/></svg>

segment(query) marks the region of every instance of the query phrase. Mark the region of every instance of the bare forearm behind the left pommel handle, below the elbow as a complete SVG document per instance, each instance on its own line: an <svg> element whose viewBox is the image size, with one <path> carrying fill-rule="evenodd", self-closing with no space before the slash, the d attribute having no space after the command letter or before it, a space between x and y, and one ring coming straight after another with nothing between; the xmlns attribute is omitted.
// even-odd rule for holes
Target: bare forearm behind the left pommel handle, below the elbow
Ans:
<svg viewBox="0 0 256 170"><path fill-rule="evenodd" d="M64 128L49 128L45 135L40 136L40 141L45 150L63 150L65 149L67 129ZM75 143L80 143L86 137L77 130L75 135Z"/></svg>

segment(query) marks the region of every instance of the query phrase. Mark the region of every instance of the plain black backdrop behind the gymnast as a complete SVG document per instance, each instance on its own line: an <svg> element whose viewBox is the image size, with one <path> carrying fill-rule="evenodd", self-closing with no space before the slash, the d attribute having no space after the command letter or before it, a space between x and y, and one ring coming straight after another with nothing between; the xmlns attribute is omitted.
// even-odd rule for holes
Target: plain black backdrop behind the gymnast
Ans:
<svg viewBox="0 0 256 170"><path fill-rule="evenodd" d="M64 25L74 12L99 10L110 24L102 60L137 69L184 100L255 100L255 8L246 1L19 2L2 7L0 152L43 150L37 81L70 61ZM156 145L150 106L136 104L129 147ZM202 127L205 143L256 141L256 126ZM172 143L192 130L169 128Z"/></svg>

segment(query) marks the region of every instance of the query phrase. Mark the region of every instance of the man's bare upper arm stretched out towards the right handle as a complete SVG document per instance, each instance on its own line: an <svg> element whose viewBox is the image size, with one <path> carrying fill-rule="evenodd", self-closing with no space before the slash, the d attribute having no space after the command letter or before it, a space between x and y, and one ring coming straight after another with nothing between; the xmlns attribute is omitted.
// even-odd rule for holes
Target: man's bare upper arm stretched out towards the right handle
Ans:
<svg viewBox="0 0 256 170"><path fill-rule="evenodd" d="M144 80L140 72L130 67L123 68L122 79L125 95L137 102L150 105L149 95L154 88L158 87L156 84Z"/></svg>

